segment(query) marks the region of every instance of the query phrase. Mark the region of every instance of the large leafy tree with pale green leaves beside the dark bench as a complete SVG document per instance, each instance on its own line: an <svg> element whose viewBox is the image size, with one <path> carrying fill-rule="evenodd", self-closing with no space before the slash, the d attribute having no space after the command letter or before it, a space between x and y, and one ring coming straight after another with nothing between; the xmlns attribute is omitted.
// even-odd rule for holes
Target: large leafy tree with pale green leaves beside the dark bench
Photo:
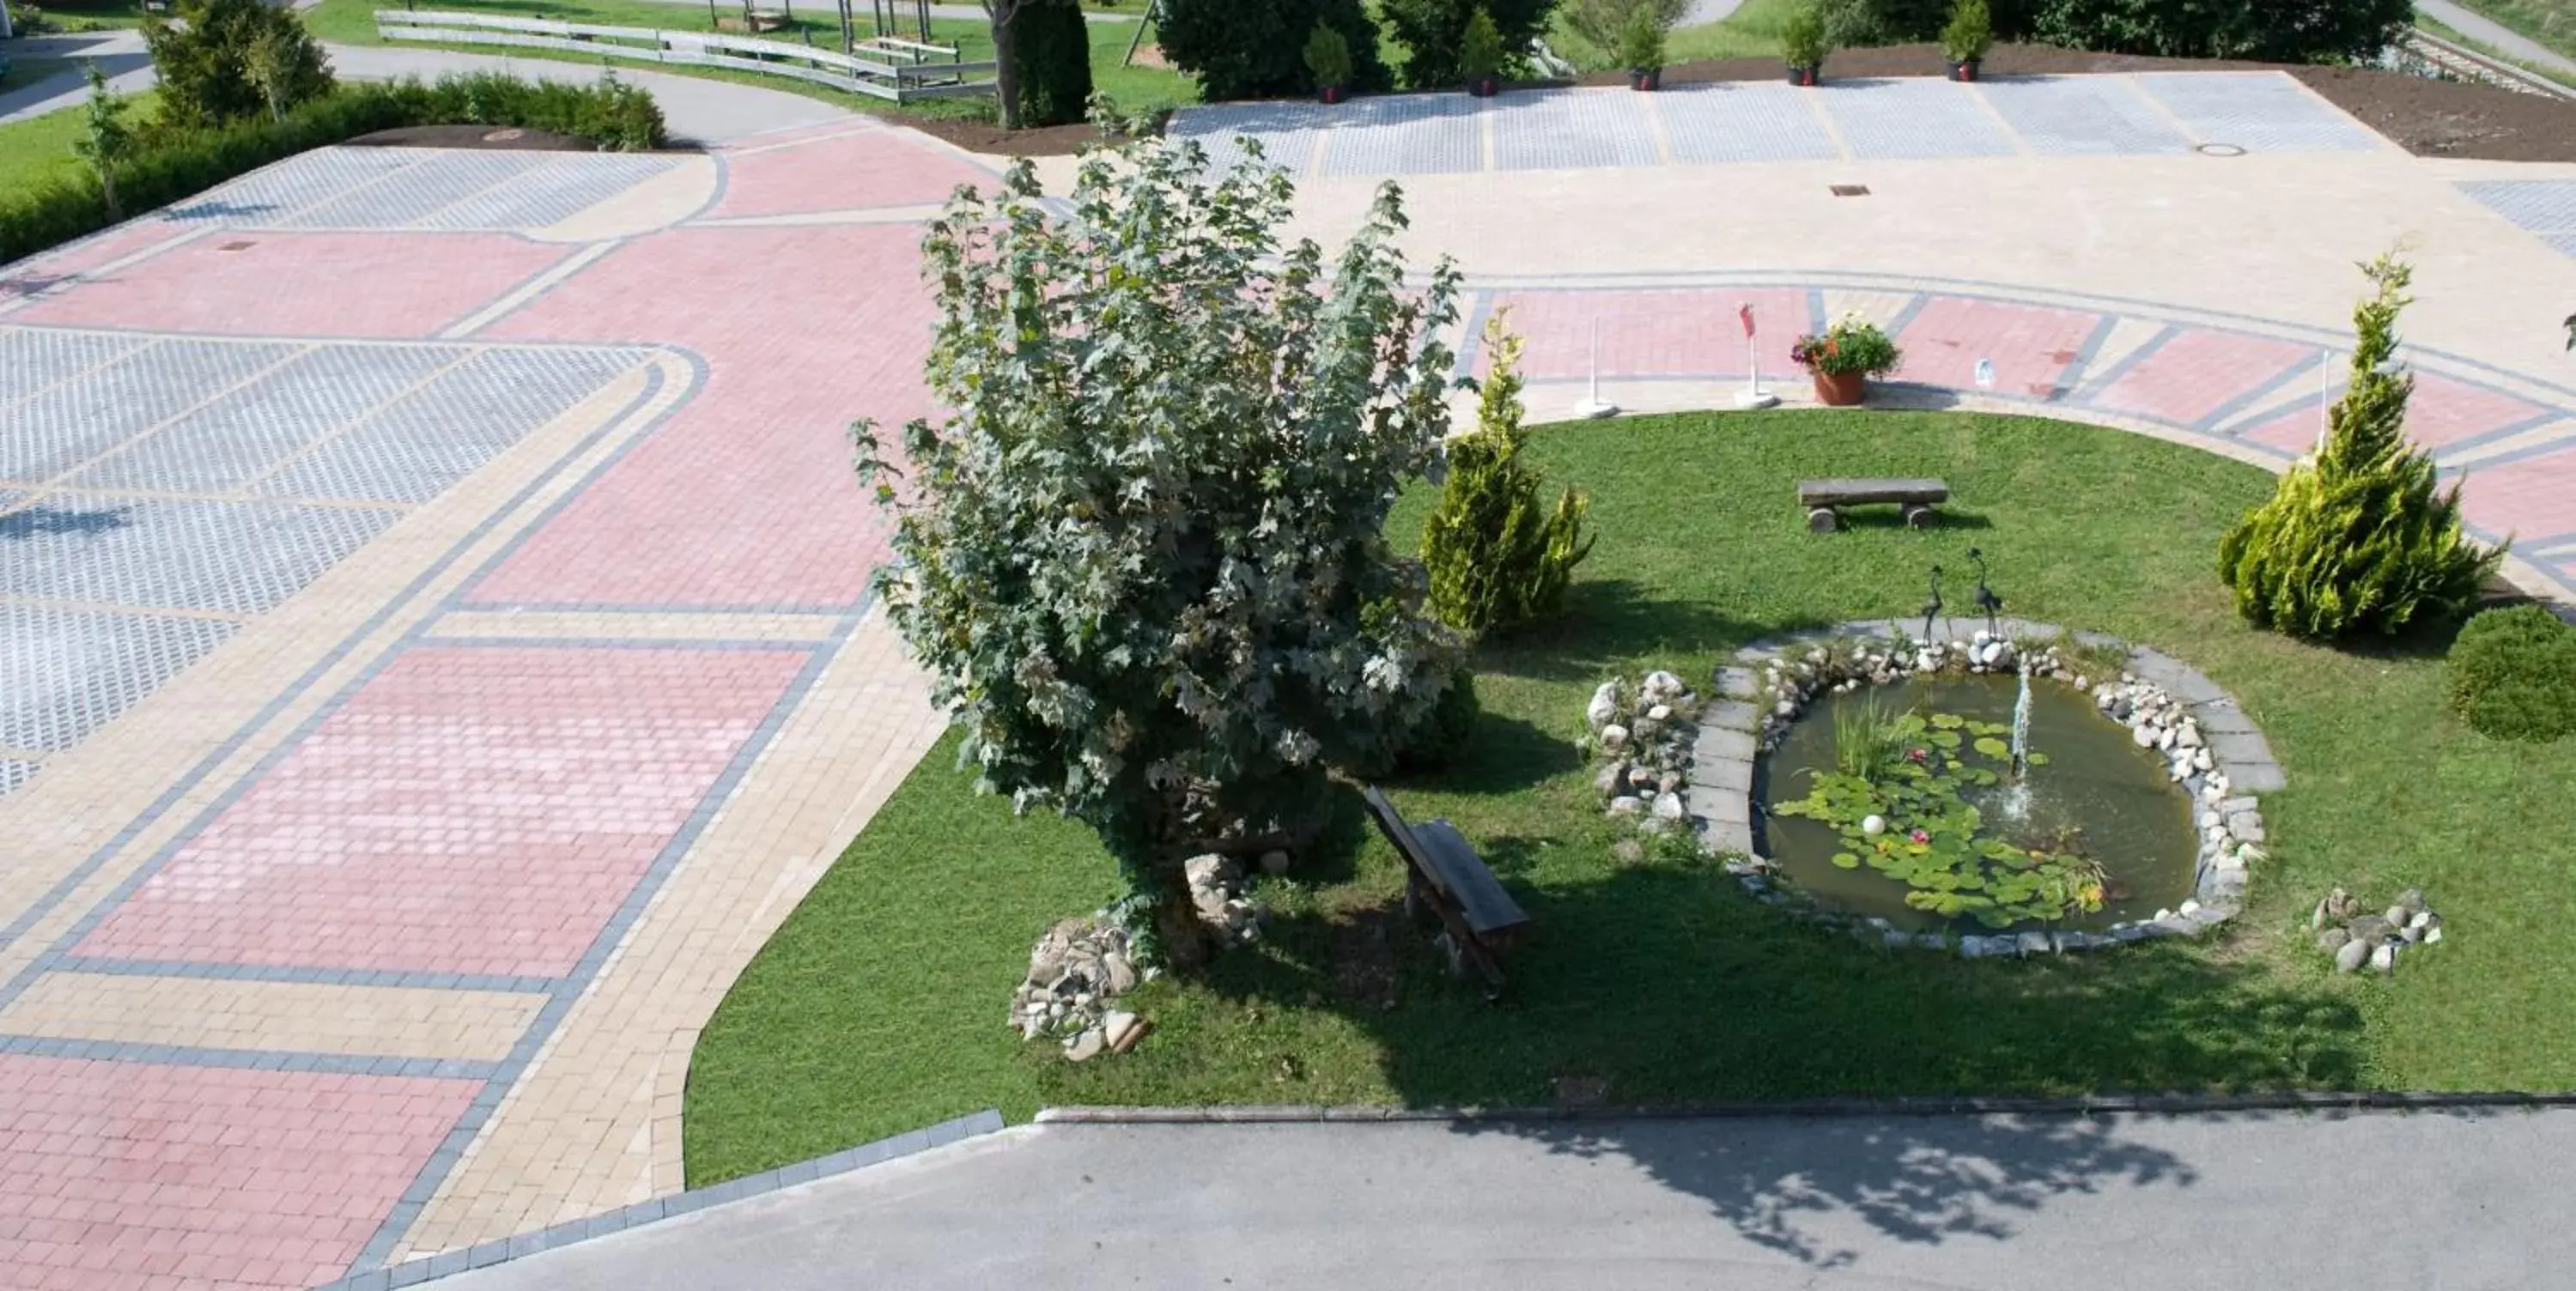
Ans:
<svg viewBox="0 0 2576 1291"><path fill-rule="evenodd" d="M966 763L1097 830L1180 964L1182 858L1311 825L1455 665L1383 533L1448 433L1455 268L1406 289L1394 186L1332 260L1280 242L1288 204L1162 139L1090 152L1061 216L1025 162L961 191L922 240L953 412L902 469L855 430Z"/></svg>

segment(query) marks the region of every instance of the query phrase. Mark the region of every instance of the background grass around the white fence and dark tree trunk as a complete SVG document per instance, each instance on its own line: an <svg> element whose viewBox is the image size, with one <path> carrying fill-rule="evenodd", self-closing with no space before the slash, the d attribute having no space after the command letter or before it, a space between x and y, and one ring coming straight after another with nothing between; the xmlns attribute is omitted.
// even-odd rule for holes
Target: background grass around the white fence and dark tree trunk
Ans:
<svg viewBox="0 0 2576 1291"><path fill-rule="evenodd" d="M466 54L492 54L513 59L556 59L556 62L598 62L585 54L554 52L554 49L510 49L510 46L428 46L420 41L384 41L376 36L376 10L392 8L381 0L322 0L322 5L304 13L304 23L314 36L335 44L399 44L412 49L459 49ZM708 31L708 10L701 5L659 5L652 0L440 0L440 10L459 13L500 13L515 18L559 18L572 23L598 23L598 26L639 26L659 31ZM726 13L737 13L739 5L724 5ZM933 18L933 39L956 44L969 62L992 59L992 28L981 21L963 18ZM1151 108L1195 103L1198 85L1188 77L1159 67L1123 67L1128 39L1136 33L1136 23L1092 23L1092 88L1115 98L1123 108ZM773 41L814 44L819 49L840 49L840 23L824 5L799 5L796 21L783 31L762 33ZM871 28L866 21L858 26L858 39L868 39ZM799 93L806 98L819 98L824 103L837 103L853 111L878 111L878 113L979 113L989 116L989 100L930 100L917 106L894 106L884 98L840 93L827 85L814 85L796 77L768 77L757 72L734 72L719 67L685 67L685 64L649 64L618 59L618 70L652 70L690 77L732 80L739 85L762 85L770 90Z"/></svg>

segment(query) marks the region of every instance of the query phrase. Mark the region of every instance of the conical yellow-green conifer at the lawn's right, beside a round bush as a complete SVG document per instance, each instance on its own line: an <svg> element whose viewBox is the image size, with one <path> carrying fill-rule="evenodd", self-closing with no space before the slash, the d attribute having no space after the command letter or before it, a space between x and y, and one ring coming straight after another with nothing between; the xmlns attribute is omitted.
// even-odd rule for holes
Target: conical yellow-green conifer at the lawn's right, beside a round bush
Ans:
<svg viewBox="0 0 2576 1291"><path fill-rule="evenodd" d="M2246 621L2306 639L2388 636L2460 618L2504 564L2504 546L2463 531L2460 487L2406 441L2414 374L2396 363L2411 271L2378 258L2354 312L2352 384L2313 459L2218 546L2218 572Z"/></svg>

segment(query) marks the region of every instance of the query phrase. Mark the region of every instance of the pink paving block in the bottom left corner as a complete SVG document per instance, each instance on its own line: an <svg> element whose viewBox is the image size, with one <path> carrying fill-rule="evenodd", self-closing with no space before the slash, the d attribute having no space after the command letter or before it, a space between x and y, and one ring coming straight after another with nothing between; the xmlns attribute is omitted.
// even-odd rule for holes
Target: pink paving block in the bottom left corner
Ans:
<svg viewBox="0 0 2576 1291"><path fill-rule="evenodd" d="M337 1278L482 1090L0 1054L0 1286ZM227 1142L245 1121L294 1124Z"/></svg>

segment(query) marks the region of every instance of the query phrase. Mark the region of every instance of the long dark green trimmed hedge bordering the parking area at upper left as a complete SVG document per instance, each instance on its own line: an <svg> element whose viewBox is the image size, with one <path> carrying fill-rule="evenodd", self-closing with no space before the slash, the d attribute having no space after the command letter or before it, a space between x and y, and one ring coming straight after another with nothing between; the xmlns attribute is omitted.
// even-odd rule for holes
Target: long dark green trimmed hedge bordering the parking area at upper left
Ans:
<svg viewBox="0 0 2576 1291"><path fill-rule="evenodd" d="M116 198L129 211L185 201L268 162L361 134L402 126L520 126L572 134L613 152L667 142L652 95L600 85L541 85L500 75L353 85L291 108L281 121L250 119L222 129L144 131L131 162L116 170ZM54 180L0 196L0 265L113 224L98 175Z"/></svg>

